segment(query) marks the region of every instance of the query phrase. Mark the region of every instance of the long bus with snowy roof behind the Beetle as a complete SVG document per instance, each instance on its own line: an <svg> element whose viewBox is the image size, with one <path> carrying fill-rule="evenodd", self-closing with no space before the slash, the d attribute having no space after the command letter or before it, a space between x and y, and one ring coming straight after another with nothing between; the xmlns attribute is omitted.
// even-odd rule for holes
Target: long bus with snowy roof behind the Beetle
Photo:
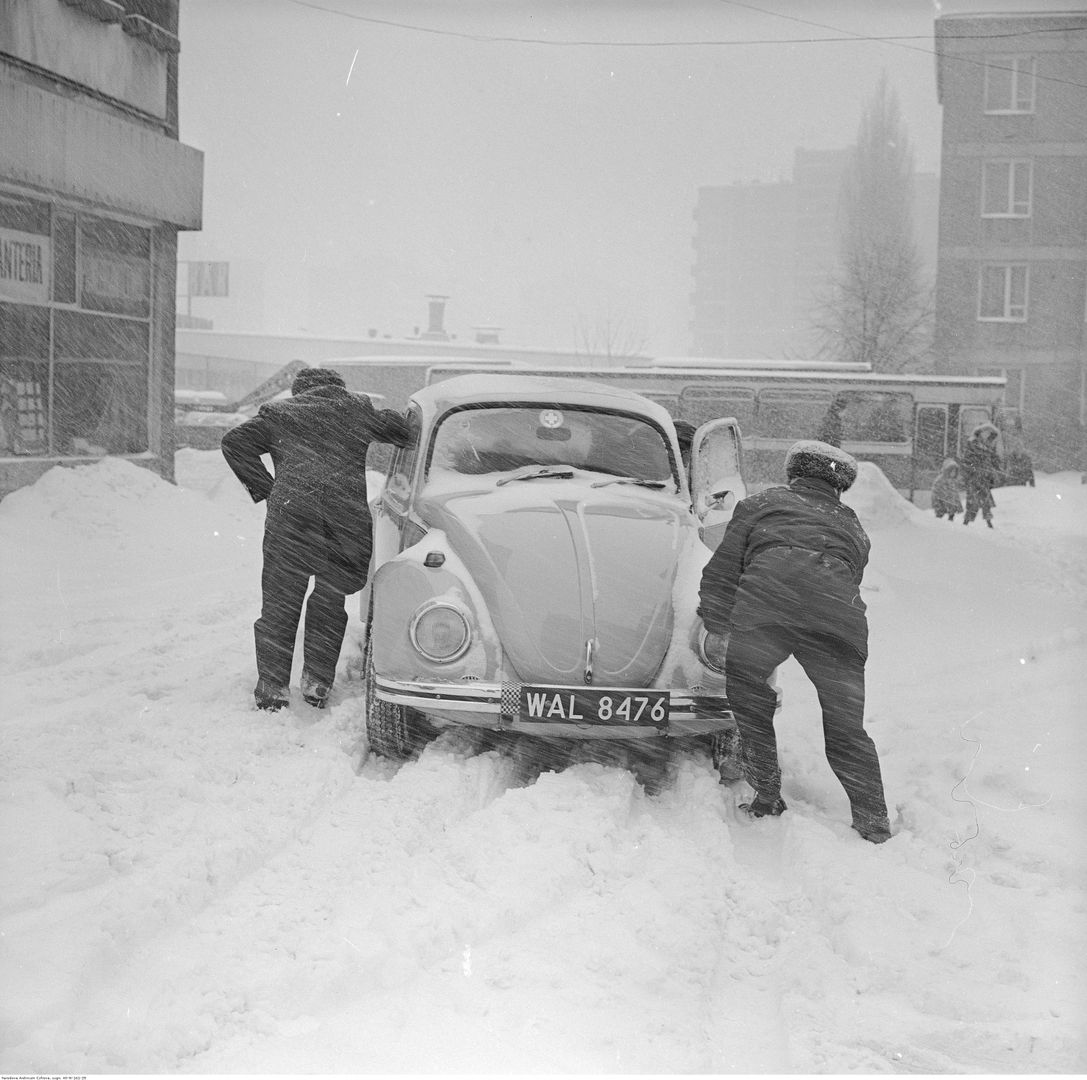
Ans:
<svg viewBox="0 0 1087 1080"><path fill-rule="evenodd" d="M854 369L861 367L864 369ZM427 381L480 373L467 363L433 364ZM752 490L785 478L785 454L798 439L836 442L879 467L911 501L924 504L947 457L986 420L1005 419L1001 376L879 374L866 365L527 367L517 375L567 376L619 384L696 427L735 417Z"/></svg>

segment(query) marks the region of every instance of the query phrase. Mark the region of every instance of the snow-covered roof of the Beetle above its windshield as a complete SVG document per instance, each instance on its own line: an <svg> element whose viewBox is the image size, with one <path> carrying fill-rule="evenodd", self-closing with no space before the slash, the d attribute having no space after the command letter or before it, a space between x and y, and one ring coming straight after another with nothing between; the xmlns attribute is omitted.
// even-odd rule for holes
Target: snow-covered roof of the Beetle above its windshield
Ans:
<svg viewBox="0 0 1087 1080"><path fill-rule="evenodd" d="M541 405L588 405L596 409L621 409L641 413L665 430L672 425L669 411L655 401L633 390L605 386L591 379L547 377L535 375L479 374L458 375L416 390L416 402L426 419L458 405L474 402L490 404L503 401L525 401Z"/></svg>

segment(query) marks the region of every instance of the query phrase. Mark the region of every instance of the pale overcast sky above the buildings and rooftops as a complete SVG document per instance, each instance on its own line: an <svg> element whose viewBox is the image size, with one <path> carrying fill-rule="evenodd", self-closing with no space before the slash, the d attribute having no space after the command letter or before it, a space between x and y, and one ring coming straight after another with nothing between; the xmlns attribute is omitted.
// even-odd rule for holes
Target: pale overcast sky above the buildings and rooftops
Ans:
<svg viewBox="0 0 1087 1080"><path fill-rule="evenodd" d="M264 262L253 329L399 336L436 292L462 337L489 324L573 348L608 323L686 353L700 187L788 179L797 147L848 146L884 70L917 168L938 171L934 15L932 0L182 0L180 135L205 159L204 228L180 258ZM314 273L340 282L317 315Z"/></svg>

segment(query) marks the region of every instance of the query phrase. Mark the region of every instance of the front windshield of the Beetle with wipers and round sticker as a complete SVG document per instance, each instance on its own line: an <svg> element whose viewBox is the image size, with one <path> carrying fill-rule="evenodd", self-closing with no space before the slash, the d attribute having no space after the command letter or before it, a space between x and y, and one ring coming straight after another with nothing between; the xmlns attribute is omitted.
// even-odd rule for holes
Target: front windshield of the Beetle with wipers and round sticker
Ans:
<svg viewBox="0 0 1087 1080"><path fill-rule="evenodd" d="M642 416L558 405L500 405L451 413L434 436L428 477L566 466L674 482L662 431Z"/></svg>

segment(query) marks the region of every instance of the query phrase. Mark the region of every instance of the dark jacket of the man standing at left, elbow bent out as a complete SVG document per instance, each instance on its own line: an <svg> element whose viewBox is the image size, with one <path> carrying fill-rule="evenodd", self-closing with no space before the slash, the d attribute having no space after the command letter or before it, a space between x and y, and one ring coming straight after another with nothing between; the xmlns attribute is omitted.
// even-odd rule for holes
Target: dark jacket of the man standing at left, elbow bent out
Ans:
<svg viewBox="0 0 1087 1080"><path fill-rule="evenodd" d="M262 405L223 436L223 455L253 502L267 500L265 542L304 537L320 545L314 565L333 567L337 587L351 593L365 585L372 550L366 451L371 442L408 440L400 413L325 385ZM262 454L271 456L274 477Z"/></svg>

